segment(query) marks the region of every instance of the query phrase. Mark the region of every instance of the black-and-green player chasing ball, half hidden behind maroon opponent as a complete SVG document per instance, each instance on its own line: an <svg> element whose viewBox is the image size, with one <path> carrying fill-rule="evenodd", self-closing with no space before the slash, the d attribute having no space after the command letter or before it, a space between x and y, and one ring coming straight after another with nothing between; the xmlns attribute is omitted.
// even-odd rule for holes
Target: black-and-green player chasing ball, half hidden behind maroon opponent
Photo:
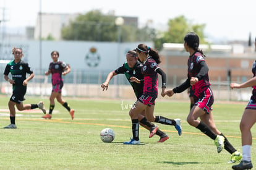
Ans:
<svg viewBox="0 0 256 170"><path fill-rule="evenodd" d="M108 90L109 81L114 77L114 75L124 74L134 89L135 96L138 99L143 93L142 64L138 61L138 56L133 50L127 52L126 61L127 62L125 62L121 67L108 74L108 77L106 81L101 85L101 88L103 88L103 91L105 89ZM131 80L134 77L137 79L137 82ZM147 118L145 117L145 111L142 111L142 113L139 114L139 122L140 125L148 130L155 127L154 124L147 121ZM160 129L156 130L156 135L160 136L160 140L158 142L164 142L169 138L168 135L162 132Z"/></svg>

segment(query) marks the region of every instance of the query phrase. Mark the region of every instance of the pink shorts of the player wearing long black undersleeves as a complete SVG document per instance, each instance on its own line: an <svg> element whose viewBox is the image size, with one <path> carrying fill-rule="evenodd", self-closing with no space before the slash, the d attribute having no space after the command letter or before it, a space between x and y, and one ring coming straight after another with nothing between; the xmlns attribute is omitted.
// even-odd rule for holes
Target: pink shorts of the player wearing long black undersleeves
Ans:
<svg viewBox="0 0 256 170"><path fill-rule="evenodd" d="M211 106L213 105L213 101L213 92L208 87L205 91L202 92L202 95L197 98L195 105L197 105L199 108L203 109L203 111L209 114L210 111L213 110L213 108L211 108Z"/></svg>

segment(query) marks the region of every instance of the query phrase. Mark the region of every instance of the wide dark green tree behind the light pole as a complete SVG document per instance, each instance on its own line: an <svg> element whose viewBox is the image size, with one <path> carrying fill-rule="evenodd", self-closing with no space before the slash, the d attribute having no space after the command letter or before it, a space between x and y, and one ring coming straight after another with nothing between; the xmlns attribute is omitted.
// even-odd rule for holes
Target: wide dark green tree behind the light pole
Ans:
<svg viewBox="0 0 256 170"><path fill-rule="evenodd" d="M117 41L117 29L121 27L121 41L153 41L155 29L148 25L139 29L137 25L126 24L117 26L116 16L103 15L100 11L90 11L79 15L69 25L62 28L61 35L64 40L84 41Z"/></svg>

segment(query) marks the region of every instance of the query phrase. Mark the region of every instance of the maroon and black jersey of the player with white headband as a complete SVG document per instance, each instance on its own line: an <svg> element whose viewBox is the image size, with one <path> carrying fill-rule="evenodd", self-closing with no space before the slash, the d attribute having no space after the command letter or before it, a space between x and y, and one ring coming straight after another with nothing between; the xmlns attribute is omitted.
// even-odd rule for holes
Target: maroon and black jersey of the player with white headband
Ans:
<svg viewBox="0 0 256 170"><path fill-rule="evenodd" d="M157 98L158 95L158 73L159 66L154 59L148 57L142 66L144 76L143 95Z"/></svg>

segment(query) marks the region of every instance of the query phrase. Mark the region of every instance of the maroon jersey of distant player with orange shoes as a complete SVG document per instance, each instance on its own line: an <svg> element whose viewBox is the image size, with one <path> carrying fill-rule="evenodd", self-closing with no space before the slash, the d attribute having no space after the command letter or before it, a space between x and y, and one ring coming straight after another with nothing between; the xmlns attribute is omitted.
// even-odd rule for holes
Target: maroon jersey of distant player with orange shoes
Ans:
<svg viewBox="0 0 256 170"><path fill-rule="evenodd" d="M53 85L63 84L62 72L66 69L65 62L57 61L49 64L49 70L51 70L51 83Z"/></svg>

